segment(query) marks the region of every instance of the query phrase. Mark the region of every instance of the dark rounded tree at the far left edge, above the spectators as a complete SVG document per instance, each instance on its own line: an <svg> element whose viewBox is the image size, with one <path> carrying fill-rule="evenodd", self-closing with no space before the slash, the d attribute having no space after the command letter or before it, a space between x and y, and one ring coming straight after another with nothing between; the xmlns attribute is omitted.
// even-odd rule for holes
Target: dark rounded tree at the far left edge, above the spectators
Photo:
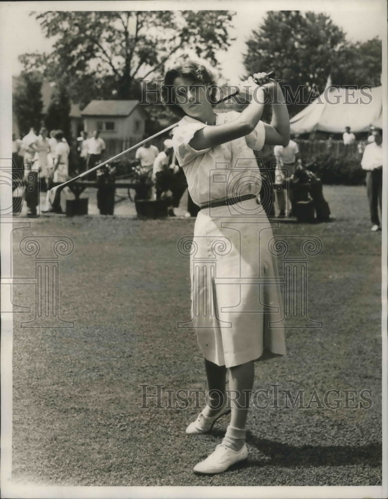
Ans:
<svg viewBox="0 0 388 499"><path fill-rule="evenodd" d="M22 72L12 95L12 105L20 135L33 127L39 131L43 110L41 94L42 78L37 72Z"/></svg>

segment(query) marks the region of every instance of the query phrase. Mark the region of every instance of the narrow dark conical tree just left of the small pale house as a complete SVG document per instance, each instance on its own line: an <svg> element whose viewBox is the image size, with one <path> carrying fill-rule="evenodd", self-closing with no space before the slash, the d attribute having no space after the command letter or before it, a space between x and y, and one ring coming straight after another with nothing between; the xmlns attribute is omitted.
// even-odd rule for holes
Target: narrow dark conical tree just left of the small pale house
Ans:
<svg viewBox="0 0 388 499"><path fill-rule="evenodd" d="M59 80L54 87L51 101L47 108L44 124L48 130L62 130L70 141L70 99L66 85Z"/></svg>

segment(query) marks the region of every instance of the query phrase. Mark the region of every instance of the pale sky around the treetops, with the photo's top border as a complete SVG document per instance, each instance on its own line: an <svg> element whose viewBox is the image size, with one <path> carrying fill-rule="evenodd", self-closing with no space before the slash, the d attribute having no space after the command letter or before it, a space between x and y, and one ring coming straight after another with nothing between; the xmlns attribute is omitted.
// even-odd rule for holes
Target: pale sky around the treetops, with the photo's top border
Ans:
<svg viewBox="0 0 388 499"><path fill-rule="evenodd" d="M39 23L34 17L29 16L31 10L50 9L85 9L92 10L101 8L101 2L1 2L1 52L6 57L6 67L11 74L18 74L21 64L18 62L18 56L25 52L43 52L51 51L51 41L45 38L41 32ZM332 18L333 22L341 27L347 34L350 41L366 41L379 36L385 36L386 25L382 23L382 4L380 0L304 0L294 1L223 1L213 0L211 8L229 8L237 10L234 17L235 30L233 34L236 40L227 52L220 51L218 59L220 61L221 74L229 81L236 81L244 74L243 54L246 52L246 40L249 38L253 29L258 29L262 23L267 10L298 8L301 10L316 10L324 12ZM103 2L104 8L107 8L106 2ZM152 5L153 7L150 7ZM185 8L193 9L209 8L208 2L192 1L111 1L109 8L111 10L125 10L136 8ZM287 6L286 6L287 5ZM6 14L4 16L4 14ZM4 21L6 19L6 21ZM274 33L276 36L276 33ZM5 50L4 50L5 49Z"/></svg>

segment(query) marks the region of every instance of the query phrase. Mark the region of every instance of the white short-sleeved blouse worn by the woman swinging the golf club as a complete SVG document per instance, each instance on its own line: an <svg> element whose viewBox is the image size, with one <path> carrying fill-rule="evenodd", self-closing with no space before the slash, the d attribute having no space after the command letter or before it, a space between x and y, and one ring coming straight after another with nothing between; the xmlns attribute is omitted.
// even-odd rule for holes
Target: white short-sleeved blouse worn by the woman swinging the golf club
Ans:
<svg viewBox="0 0 388 499"><path fill-rule="evenodd" d="M216 125L234 121L237 111L216 113ZM265 142L264 123L245 137L197 151L189 142L194 134L207 126L185 116L173 130L173 148L179 165L184 169L188 190L198 206L210 201L259 194L261 176L253 149L259 151Z"/></svg>

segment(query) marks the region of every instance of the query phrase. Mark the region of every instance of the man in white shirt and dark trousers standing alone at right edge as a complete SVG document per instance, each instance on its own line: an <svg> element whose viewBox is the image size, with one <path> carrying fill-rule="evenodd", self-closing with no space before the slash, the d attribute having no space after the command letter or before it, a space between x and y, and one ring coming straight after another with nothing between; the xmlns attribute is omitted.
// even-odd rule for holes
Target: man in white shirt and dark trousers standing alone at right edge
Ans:
<svg viewBox="0 0 388 499"><path fill-rule="evenodd" d="M369 210L371 212L372 231L380 229L379 209L382 210L383 197L383 137L382 131L373 131L375 141L367 145L364 150L361 166L367 172L367 193Z"/></svg>

